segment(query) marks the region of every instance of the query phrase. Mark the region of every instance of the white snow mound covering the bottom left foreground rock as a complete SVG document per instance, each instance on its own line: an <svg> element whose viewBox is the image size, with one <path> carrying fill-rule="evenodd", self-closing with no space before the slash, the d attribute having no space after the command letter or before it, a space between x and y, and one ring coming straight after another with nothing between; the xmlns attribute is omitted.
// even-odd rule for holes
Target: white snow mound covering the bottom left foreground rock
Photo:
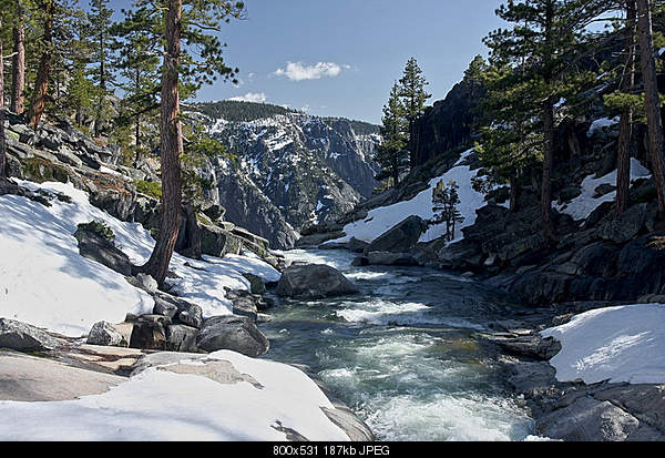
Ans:
<svg viewBox="0 0 665 458"><path fill-rule="evenodd" d="M274 427L279 424L309 440L349 440L321 410L331 409L330 401L301 370L228 350L204 360L229 362L260 386L151 367L102 395L0 401L0 440L285 440ZM183 356L181 364L202 363Z"/></svg>

